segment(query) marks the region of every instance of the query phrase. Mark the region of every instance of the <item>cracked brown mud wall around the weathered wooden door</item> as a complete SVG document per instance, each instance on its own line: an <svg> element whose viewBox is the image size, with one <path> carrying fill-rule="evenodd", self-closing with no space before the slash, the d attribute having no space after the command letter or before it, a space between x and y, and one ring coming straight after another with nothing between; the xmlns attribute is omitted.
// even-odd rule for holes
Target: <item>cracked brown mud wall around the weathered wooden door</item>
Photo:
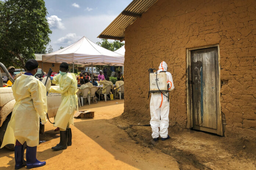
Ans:
<svg viewBox="0 0 256 170"><path fill-rule="evenodd" d="M168 64L170 124L186 127L186 48L219 44L225 136L256 137L256 1L159 0L125 30L124 114L150 119L148 69Z"/></svg>

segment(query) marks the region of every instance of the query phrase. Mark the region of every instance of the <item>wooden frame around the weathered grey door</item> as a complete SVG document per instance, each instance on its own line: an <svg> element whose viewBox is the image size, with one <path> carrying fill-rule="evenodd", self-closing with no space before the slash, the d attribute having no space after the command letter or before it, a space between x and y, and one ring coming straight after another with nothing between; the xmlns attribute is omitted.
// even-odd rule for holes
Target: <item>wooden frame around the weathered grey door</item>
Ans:
<svg viewBox="0 0 256 170"><path fill-rule="evenodd" d="M218 78L217 81L217 134L224 136L223 122L221 114L221 103L220 103L220 46L218 44L207 45L196 48L186 49L186 100L187 100L187 128L193 128L193 96L192 96L192 70L191 70L191 51L205 48L218 48ZM203 127L202 127L202 130Z"/></svg>

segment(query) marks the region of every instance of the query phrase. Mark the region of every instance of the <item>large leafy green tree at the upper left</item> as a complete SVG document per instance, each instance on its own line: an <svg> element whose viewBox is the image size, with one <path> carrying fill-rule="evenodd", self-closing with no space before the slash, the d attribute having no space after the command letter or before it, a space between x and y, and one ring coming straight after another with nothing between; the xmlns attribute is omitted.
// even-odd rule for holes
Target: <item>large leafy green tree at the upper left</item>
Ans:
<svg viewBox="0 0 256 170"><path fill-rule="evenodd" d="M34 53L44 51L51 30L43 0L0 1L0 61L25 67Z"/></svg>

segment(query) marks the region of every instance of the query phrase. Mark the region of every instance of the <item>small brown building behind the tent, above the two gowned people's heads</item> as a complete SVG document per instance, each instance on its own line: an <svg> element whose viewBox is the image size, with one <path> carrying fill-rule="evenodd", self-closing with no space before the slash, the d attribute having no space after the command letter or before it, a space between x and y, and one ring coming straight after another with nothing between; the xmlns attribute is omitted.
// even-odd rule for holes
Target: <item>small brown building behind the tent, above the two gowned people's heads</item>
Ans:
<svg viewBox="0 0 256 170"><path fill-rule="evenodd" d="M43 68L42 70L47 73L49 71L49 69L51 68L53 70L53 72L58 73L60 71L61 63L48 63L48 62L42 63L42 55L43 54L35 54L35 56L36 56L35 59L36 59L36 61L38 61L39 69Z"/></svg>

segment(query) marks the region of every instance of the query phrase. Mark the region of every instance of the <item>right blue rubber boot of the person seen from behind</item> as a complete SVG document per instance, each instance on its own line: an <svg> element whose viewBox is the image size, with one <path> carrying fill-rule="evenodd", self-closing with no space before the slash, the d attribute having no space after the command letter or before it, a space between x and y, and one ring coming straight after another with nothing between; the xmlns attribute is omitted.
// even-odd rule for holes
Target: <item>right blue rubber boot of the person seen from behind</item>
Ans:
<svg viewBox="0 0 256 170"><path fill-rule="evenodd" d="M36 148L37 148L36 146L35 147L27 146L27 150L26 150L27 169L44 166L46 164L45 161L40 162L39 160L36 159Z"/></svg>

